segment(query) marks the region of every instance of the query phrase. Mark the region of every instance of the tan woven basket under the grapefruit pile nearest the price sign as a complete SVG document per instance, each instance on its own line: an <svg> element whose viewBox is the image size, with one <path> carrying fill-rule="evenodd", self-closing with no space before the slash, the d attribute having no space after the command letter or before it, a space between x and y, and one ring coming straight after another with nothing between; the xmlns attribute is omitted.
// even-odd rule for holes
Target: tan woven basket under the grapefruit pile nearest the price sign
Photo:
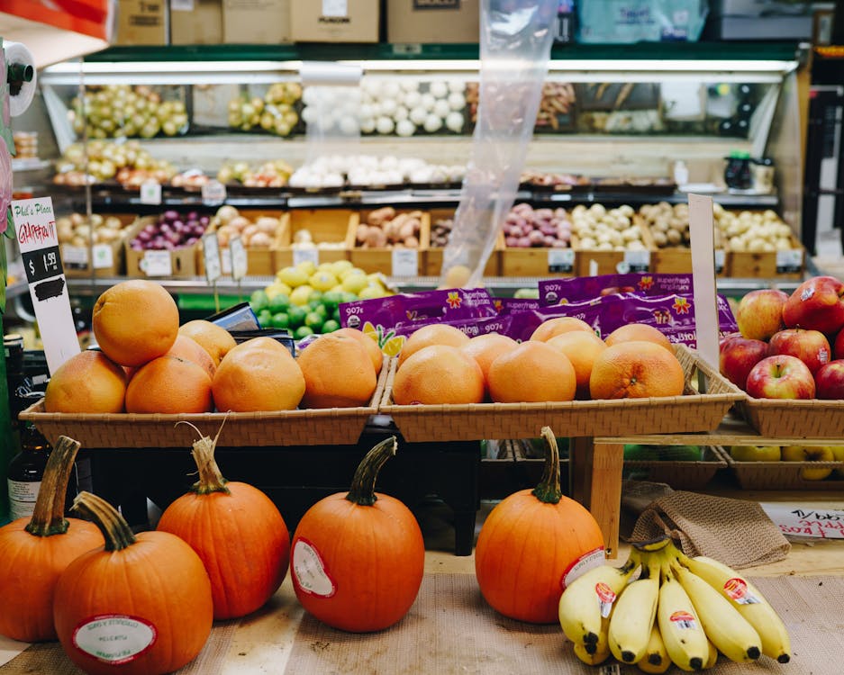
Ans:
<svg viewBox="0 0 844 675"><path fill-rule="evenodd" d="M354 445L370 415L377 412L383 398L388 361L368 406L313 410L278 410L275 412L206 412L179 415L68 414L44 412L44 400L20 413L19 419L35 424L50 443L64 435L83 447L190 447L196 432L186 424L195 424L202 433L213 437L225 419L220 446L340 446Z"/></svg>

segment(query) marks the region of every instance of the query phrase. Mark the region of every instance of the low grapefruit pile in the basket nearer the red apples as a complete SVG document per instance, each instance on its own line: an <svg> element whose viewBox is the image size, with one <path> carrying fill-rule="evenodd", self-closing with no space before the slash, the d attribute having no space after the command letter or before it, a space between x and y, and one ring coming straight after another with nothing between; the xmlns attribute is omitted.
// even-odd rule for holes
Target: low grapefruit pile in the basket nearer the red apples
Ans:
<svg viewBox="0 0 844 675"><path fill-rule="evenodd" d="M685 375L668 339L628 324L605 339L585 321L544 321L519 344L468 338L431 324L407 338L393 383L396 405L574 401L679 396Z"/></svg>

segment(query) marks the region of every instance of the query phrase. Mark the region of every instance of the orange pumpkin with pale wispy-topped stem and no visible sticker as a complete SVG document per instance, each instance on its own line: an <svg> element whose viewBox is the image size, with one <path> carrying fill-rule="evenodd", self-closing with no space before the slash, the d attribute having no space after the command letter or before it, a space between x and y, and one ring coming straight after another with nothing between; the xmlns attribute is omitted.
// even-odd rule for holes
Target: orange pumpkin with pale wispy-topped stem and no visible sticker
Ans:
<svg viewBox="0 0 844 675"><path fill-rule="evenodd" d="M228 619L254 612L281 586L290 535L267 495L222 477L214 460L219 437L218 431L213 440L204 436L195 442L199 481L165 509L158 529L181 537L202 558L211 578L214 618Z"/></svg>

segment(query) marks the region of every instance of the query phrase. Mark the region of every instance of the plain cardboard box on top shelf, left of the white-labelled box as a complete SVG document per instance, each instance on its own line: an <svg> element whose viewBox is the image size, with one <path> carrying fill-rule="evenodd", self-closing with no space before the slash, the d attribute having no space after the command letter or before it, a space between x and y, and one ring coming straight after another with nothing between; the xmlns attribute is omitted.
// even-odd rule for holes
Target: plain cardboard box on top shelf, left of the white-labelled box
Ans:
<svg viewBox="0 0 844 675"><path fill-rule="evenodd" d="M290 7L291 0L222 0L222 41L228 44L290 42Z"/></svg>

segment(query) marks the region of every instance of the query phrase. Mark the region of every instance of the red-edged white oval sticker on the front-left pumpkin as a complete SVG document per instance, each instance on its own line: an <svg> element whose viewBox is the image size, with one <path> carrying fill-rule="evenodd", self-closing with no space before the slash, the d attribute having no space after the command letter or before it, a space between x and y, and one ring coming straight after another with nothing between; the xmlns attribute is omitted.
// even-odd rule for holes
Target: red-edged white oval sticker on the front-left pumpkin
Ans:
<svg viewBox="0 0 844 675"><path fill-rule="evenodd" d="M103 614L85 619L73 631L73 644L97 661L129 663L155 644L155 626L138 617Z"/></svg>

